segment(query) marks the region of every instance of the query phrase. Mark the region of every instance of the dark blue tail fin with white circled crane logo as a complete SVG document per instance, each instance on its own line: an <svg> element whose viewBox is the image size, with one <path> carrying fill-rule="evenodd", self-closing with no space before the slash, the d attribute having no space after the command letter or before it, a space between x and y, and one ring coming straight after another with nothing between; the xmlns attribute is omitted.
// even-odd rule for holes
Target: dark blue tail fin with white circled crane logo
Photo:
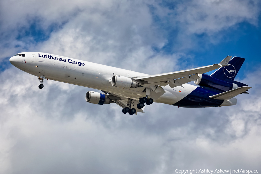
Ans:
<svg viewBox="0 0 261 174"><path fill-rule="evenodd" d="M224 81L226 81L226 79L234 80L244 61L244 58L233 57L227 66L223 66L216 70L213 74L211 74L211 77Z"/></svg>

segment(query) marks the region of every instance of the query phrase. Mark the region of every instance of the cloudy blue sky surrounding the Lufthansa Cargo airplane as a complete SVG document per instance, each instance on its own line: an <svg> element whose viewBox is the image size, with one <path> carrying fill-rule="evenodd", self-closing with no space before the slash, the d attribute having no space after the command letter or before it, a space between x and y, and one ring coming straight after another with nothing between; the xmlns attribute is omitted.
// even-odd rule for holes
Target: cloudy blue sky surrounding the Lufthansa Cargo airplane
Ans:
<svg viewBox="0 0 261 174"><path fill-rule="evenodd" d="M1 0L0 173L260 173L260 9L259 0ZM90 88L49 80L40 90L9 62L26 51L146 74L238 56L235 80L253 88L236 106L154 103L124 115L87 103Z"/></svg>

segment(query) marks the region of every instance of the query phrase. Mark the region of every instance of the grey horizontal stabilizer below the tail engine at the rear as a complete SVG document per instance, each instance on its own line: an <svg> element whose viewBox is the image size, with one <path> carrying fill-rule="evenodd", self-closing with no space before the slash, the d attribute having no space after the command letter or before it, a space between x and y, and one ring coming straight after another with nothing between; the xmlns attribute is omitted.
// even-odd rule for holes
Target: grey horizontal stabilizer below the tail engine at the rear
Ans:
<svg viewBox="0 0 261 174"><path fill-rule="evenodd" d="M243 93L244 91L246 91L250 88L252 88L252 87L242 86L240 88L232 89L232 90L226 91L224 93L209 96L209 98L218 99L218 100L229 100L229 99L232 99L233 97L237 96L238 94Z"/></svg>

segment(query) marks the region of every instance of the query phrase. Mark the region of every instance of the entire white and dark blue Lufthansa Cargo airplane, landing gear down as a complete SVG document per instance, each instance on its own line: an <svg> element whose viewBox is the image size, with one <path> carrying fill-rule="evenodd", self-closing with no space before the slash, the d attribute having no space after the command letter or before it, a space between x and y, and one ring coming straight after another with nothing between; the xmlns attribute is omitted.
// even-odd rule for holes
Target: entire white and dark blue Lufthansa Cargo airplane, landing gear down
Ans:
<svg viewBox="0 0 261 174"><path fill-rule="evenodd" d="M244 60L227 56L219 64L156 75L43 52L21 52L10 63L37 76L39 89L44 87L44 79L98 89L102 93L86 93L86 102L116 103L122 113L137 115L153 102L186 108L236 105L234 97L252 88L234 80ZM213 74L205 74L215 69ZM198 86L187 84L190 81Z"/></svg>

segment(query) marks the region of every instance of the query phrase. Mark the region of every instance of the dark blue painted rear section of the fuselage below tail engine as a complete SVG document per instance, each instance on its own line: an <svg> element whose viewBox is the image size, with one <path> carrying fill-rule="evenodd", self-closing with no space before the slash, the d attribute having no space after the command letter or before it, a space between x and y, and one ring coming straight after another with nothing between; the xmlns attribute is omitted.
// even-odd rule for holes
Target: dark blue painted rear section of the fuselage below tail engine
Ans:
<svg viewBox="0 0 261 174"><path fill-rule="evenodd" d="M211 99L209 96L218 94L214 91L197 87L189 95L173 104L184 108L202 108L220 106L224 100Z"/></svg>

